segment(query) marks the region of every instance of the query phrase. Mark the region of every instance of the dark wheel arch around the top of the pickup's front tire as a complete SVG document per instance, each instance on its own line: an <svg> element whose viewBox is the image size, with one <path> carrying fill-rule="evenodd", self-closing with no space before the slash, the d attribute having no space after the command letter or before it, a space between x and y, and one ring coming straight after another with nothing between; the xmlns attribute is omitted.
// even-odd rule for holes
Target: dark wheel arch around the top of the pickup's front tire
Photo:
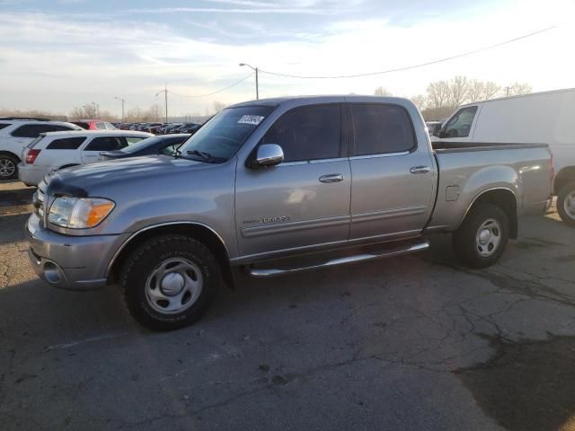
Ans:
<svg viewBox="0 0 575 431"><path fill-rule="evenodd" d="M129 254L134 251L139 244L149 240L150 238L173 233L189 235L208 247L209 251L214 254L214 257L217 260L217 264L222 271L222 277L226 282L226 285L231 288L234 287L234 277L232 275L226 242L224 242L222 237L214 229L206 224L198 222L170 222L155 224L133 233L128 240L119 247L118 251L116 251L112 257L106 273L108 283L111 284L118 280L119 271L124 262L128 258Z"/></svg>

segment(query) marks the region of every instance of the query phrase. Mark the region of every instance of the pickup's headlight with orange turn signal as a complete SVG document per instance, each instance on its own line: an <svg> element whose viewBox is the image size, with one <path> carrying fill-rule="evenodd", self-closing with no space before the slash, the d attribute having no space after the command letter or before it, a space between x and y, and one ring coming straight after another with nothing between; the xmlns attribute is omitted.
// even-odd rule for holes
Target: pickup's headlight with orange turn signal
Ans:
<svg viewBox="0 0 575 431"><path fill-rule="evenodd" d="M103 198L56 198L49 212L49 222L71 229L94 227L114 209L115 204Z"/></svg>

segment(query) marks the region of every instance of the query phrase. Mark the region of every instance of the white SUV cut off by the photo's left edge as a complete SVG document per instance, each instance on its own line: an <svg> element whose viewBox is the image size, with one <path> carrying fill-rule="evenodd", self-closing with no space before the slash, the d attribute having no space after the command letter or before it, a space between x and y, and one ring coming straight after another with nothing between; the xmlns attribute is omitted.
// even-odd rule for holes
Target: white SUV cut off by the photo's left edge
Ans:
<svg viewBox="0 0 575 431"><path fill-rule="evenodd" d="M81 129L71 123L49 119L0 117L0 180L18 176L22 150L40 133Z"/></svg>

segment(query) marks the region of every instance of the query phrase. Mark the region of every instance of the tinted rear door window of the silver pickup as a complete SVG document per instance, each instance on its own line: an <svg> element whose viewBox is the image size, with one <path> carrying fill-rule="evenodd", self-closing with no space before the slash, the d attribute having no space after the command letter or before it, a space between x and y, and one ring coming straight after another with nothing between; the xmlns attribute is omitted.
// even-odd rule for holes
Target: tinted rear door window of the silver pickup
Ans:
<svg viewBox="0 0 575 431"><path fill-rule="evenodd" d="M394 154L416 146L409 114L400 106L352 104L353 154Z"/></svg>

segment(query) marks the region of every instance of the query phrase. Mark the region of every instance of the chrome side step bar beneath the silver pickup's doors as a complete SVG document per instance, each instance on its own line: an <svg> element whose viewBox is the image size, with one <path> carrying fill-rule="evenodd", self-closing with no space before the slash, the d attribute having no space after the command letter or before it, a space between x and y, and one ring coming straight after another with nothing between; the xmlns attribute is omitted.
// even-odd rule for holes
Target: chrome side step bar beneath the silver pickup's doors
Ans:
<svg viewBox="0 0 575 431"><path fill-rule="evenodd" d="M380 252L364 252L360 254L356 254L353 256L345 256L342 258L334 258L325 260L322 263L316 263L309 266L302 266L296 268L256 268L256 267L248 267L245 268L248 275L257 278L267 278L267 277L276 277L285 274L293 274L300 271L307 271L310 269L318 269L318 268L329 268L335 267L338 265L345 265L348 263L357 263L357 262L365 262L367 260L374 260L374 259L384 259L384 258L392 258L394 256L401 256L403 254L414 253L416 251L424 251L429 249L429 241L423 241L418 243L411 243L408 245L402 245L393 247L387 250L383 250Z"/></svg>

